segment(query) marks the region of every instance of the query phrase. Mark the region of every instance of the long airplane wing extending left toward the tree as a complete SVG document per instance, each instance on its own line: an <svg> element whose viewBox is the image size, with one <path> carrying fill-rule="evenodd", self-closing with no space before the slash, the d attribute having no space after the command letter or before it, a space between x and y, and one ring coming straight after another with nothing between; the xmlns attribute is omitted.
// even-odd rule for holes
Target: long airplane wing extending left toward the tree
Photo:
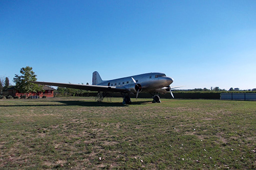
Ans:
<svg viewBox="0 0 256 170"><path fill-rule="evenodd" d="M102 92L125 92L128 91L124 87L116 87L116 86L98 86L98 85L83 85L83 84L66 84L66 83L52 83L52 82L31 82L35 84L44 84L50 86L58 86L58 87L68 87L82 90L90 90L90 91L102 91Z"/></svg>

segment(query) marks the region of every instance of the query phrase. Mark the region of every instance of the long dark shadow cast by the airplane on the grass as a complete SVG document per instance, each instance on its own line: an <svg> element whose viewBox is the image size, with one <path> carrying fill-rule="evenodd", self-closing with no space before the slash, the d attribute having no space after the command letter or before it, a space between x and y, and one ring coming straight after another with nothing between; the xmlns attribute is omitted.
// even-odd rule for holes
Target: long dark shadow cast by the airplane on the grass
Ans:
<svg viewBox="0 0 256 170"><path fill-rule="evenodd" d="M0 105L0 107L24 107L24 106L87 106L87 107L127 107L129 105L123 105L119 102L87 102L87 101L33 101L33 102L59 102L61 104L22 104L22 105ZM145 105L151 103L151 101L139 101L133 102L132 105ZM64 105L63 105L64 104Z"/></svg>

